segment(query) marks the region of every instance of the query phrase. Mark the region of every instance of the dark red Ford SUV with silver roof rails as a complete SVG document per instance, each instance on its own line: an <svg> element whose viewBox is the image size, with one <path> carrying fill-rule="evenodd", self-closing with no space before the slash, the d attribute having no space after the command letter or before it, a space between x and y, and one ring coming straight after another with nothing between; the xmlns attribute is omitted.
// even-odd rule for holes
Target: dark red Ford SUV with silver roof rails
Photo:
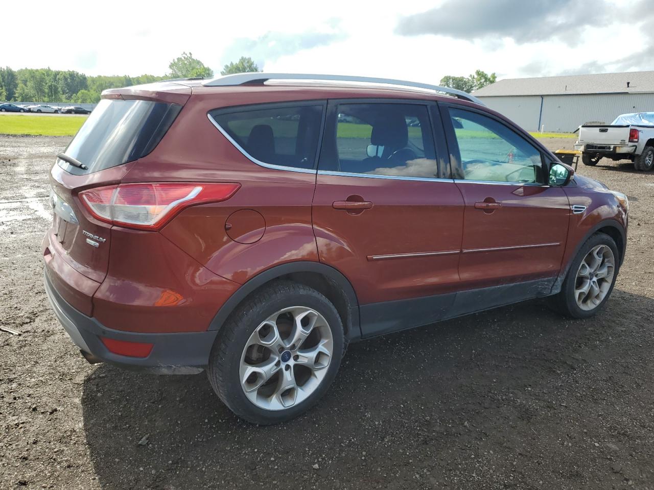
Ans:
<svg viewBox="0 0 654 490"><path fill-rule="evenodd" d="M248 73L108 90L50 174L45 287L88 361L207 369L274 423L349 342L608 300L627 197L463 92Z"/></svg>

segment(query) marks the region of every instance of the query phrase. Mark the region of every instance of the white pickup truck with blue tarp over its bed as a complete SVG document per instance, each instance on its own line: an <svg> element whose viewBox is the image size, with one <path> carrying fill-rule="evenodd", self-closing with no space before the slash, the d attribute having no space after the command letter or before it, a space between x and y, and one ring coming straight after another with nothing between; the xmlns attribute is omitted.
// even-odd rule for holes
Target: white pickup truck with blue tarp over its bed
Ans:
<svg viewBox="0 0 654 490"><path fill-rule="evenodd" d="M579 126L574 145L584 165L597 165L602 157L630 159L636 170L654 169L654 112L617 116L611 124L586 123Z"/></svg>

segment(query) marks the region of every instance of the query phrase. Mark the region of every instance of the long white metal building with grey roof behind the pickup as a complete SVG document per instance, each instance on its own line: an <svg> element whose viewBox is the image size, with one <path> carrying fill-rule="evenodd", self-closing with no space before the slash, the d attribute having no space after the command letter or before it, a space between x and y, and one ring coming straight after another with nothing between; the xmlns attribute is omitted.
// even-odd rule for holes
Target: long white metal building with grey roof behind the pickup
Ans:
<svg viewBox="0 0 654 490"><path fill-rule="evenodd" d="M654 71L508 78L473 95L527 131L570 133L585 122L654 111Z"/></svg>

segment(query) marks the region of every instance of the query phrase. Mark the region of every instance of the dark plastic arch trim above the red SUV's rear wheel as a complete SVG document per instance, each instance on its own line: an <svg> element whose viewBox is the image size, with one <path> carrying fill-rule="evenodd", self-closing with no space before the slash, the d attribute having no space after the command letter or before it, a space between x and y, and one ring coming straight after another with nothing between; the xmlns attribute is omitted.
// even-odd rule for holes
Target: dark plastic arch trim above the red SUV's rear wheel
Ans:
<svg viewBox="0 0 654 490"><path fill-rule="evenodd" d="M336 307L345 338L349 341L361 337L359 321L359 304L356 292L351 282L339 270L320 262L296 261L271 267L250 278L233 293L220 307L209 324L209 330L218 330L230 318L234 310L252 293L275 280L288 279L306 286L313 287L322 293Z"/></svg>

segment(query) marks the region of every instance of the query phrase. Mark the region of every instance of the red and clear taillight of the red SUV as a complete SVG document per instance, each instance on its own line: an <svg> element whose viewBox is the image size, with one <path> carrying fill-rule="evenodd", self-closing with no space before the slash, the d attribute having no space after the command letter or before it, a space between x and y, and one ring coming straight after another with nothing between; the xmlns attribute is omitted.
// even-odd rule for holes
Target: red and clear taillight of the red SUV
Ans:
<svg viewBox="0 0 654 490"><path fill-rule="evenodd" d="M194 182L121 184L88 189L79 197L98 220L128 228L162 227L183 208L218 203L234 195L241 184Z"/></svg>

